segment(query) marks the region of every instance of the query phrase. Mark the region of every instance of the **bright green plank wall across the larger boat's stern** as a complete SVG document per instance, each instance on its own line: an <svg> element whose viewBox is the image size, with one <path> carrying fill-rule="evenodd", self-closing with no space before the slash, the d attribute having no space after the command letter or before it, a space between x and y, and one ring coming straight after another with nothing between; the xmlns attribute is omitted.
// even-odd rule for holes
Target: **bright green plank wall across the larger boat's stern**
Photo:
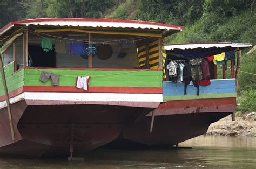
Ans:
<svg viewBox="0 0 256 169"><path fill-rule="evenodd" d="M101 71L71 69L25 69L25 86L51 86L39 81L42 71L60 74L59 86L76 85L77 76L91 76L89 86L95 87L162 87L161 71Z"/></svg>

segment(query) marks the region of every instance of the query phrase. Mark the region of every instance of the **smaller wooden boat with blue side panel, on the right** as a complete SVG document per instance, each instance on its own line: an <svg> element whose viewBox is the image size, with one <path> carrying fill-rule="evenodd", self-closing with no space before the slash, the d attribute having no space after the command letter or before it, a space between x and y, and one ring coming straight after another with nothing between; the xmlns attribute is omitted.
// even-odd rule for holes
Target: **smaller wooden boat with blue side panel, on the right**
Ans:
<svg viewBox="0 0 256 169"><path fill-rule="evenodd" d="M167 59L190 60L194 54L202 57L221 52L240 51L252 44L242 43L196 43L165 45ZM236 81L234 61L231 62L230 79L226 79L223 65L223 79L217 79L217 65L210 64L211 85L200 86L199 96L196 87L187 87L184 95L184 84L175 85L170 81L163 82L163 103L146 118L125 128L123 135L111 145L173 146L185 140L203 135L211 123L232 114L236 106ZM166 62L167 63L167 62ZM153 123L153 130L150 129Z"/></svg>

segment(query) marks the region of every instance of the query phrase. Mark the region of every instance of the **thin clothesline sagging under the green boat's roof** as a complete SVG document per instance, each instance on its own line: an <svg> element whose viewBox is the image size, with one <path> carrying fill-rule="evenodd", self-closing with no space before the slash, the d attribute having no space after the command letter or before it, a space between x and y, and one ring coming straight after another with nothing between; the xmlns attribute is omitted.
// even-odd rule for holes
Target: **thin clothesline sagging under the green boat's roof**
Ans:
<svg viewBox="0 0 256 169"><path fill-rule="evenodd" d="M69 41L79 41L79 42L83 42L85 45L86 44L89 44L88 41L85 41L85 40L78 40L78 39L71 39L71 38L64 38L64 37L58 37L58 36L54 36L54 35L51 35L51 34L46 34L46 33L35 33L31 30L29 30L30 33L32 34L35 34L39 37L44 37L44 36L50 36L50 37L55 37L55 38L59 38L59 39L65 39L65 40L69 40ZM44 36L42 36L41 34L43 34ZM139 39L140 38L140 39ZM134 43L136 41L139 41L139 40L143 40L143 39L147 39L147 38L151 38L151 37L136 37L136 38L126 38L126 39L117 39L117 40L109 40L109 41L99 41L99 42L96 42L96 41L92 41L91 43L93 44L121 44L123 43L124 41L129 41ZM136 40L134 40L136 39ZM52 39L52 40L57 40L57 39ZM115 42L117 41L117 42Z"/></svg>

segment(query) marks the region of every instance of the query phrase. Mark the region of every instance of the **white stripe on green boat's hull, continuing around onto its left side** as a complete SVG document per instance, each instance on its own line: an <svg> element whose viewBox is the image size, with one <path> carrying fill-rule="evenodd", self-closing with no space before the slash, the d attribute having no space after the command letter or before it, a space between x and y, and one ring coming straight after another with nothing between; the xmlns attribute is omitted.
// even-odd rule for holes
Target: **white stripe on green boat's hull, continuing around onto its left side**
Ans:
<svg viewBox="0 0 256 169"><path fill-rule="evenodd" d="M163 102L162 94L131 94L131 93L56 93L56 92L24 92L18 96L10 98L10 103L15 103L20 100L30 101L67 101L67 103L92 103L93 102L118 102L126 105L129 102L144 102L144 103L160 103ZM113 104L113 105L116 105ZM136 105L136 104L134 104ZM6 101L0 102L0 109L6 107ZM155 107L155 105L152 105Z"/></svg>

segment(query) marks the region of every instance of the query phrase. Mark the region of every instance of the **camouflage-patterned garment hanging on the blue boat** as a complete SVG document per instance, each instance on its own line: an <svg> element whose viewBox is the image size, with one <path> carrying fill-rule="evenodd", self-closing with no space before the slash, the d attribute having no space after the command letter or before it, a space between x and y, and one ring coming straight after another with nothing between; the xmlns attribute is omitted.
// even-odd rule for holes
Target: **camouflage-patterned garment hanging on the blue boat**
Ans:
<svg viewBox="0 0 256 169"><path fill-rule="evenodd" d="M192 80L198 81L203 79L202 59L190 60Z"/></svg>

